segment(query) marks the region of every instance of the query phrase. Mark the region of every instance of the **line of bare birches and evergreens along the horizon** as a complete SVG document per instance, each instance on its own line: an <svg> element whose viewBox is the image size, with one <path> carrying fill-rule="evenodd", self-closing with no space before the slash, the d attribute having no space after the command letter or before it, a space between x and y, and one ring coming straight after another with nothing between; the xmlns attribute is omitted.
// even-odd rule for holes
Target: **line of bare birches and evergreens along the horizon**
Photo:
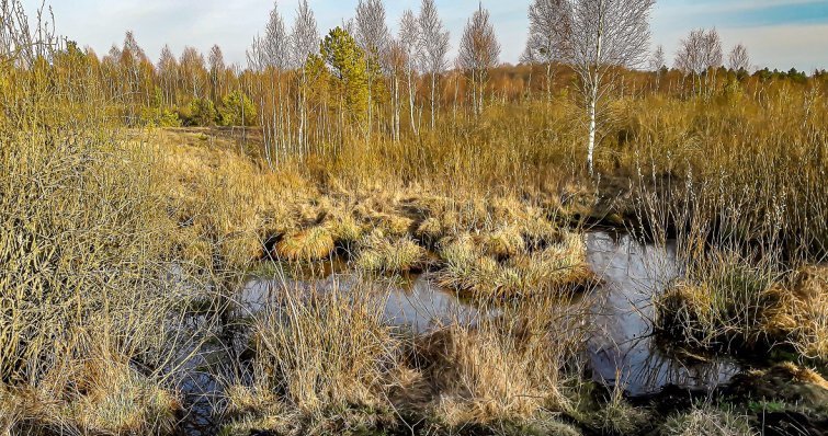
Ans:
<svg viewBox="0 0 828 436"><path fill-rule="evenodd" d="M175 56L165 46L152 61L132 32L100 58L68 42L48 53L32 47L29 56L16 57L27 65L16 67L44 59L53 68L93 78L107 101L117 103L113 116L129 126L257 126L273 165L337 153L353 140L417 138L458 119L474 121L489 105L555 104L566 97L582 110L591 169L613 99L651 92L708 99L757 81L806 83L825 77L795 70L751 73L746 46L737 44L725 57L715 30L690 32L669 69L663 48L650 50L654 4L533 0L519 66L501 65L496 28L483 3L472 11L451 59L451 35L434 0L405 11L396 33L382 0L360 0L354 18L325 35L307 0L300 0L290 25L274 3L245 67L227 65L218 45L206 56L194 47ZM8 16L22 10L10 10ZM9 50L26 47L9 37L0 43Z"/></svg>

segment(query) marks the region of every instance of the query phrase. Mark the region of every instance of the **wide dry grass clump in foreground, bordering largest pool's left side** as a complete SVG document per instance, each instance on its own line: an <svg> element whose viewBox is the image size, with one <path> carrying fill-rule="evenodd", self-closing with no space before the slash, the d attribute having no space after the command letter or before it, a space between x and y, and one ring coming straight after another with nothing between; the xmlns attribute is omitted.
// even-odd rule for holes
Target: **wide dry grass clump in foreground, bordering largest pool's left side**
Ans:
<svg viewBox="0 0 828 436"><path fill-rule="evenodd" d="M566 371L586 331L577 306L540 299L475 326L452 324L417 339L429 413L450 427L532 423L571 408Z"/></svg>

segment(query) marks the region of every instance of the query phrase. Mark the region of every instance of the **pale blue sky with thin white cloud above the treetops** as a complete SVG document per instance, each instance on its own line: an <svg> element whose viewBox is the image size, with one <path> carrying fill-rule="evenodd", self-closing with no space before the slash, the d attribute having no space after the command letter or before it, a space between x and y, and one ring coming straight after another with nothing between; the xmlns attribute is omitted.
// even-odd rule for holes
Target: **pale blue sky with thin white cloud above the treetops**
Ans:
<svg viewBox="0 0 828 436"><path fill-rule="evenodd" d="M23 0L33 14L42 0ZM354 15L358 0L308 0L320 34ZM452 55L478 0L436 0L451 32ZM517 64L524 49L531 0L484 0L502 46L501 61ZM92 47L99 56L132 30L154 60L169 44L175 54L192 45L207 53L214 44L228 64L245 66L245 50L260 33L273 0L50 0L59 34ZM298 0L279 0L290 27ZM386 0L393 32L402 11L420 0ZM828 68L828 0L657 0L651 45L663 45L668 64L691 30L715 27L725 50L744 43L757 68L813 71Z"/></svg>

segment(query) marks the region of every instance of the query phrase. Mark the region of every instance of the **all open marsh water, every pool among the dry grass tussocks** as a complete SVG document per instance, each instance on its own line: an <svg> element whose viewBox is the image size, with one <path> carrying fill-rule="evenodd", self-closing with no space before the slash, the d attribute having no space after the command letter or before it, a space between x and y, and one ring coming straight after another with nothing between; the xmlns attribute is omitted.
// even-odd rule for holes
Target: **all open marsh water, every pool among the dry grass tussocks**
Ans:
<svg viewBox="0 0 828 436"><path fill-rule="evenodd" d="M723 357L678 355L653 336L653 296L680 274L674 244L643 244L631 236L609 232L590 232L586 242L589 264L603 279L582 297L589 303L588 322L594 332L585 356L594 381L619 386L627 395L638 397L658 393L667 386L713 390L740 371L737 363ZM222 381L238 377L237 363L245 359L249 340L245 318L274 303L280 289L348 289L354 280L354 275L336 263L322 273L298 278L280 271L269 278L251 277L236 296L231 314L213 321L214 325L205 326L206 318L194 317L192 324L201 333L193 334L193 341L201 344L202 352L190 359L181 381L190 411L183 433L215 432L214 412L223 406L218 402ZM415 332L451 322L474 323L479 317L494 314L440 288L429 274L395 279L385 287L386 321Z"/></svg>

